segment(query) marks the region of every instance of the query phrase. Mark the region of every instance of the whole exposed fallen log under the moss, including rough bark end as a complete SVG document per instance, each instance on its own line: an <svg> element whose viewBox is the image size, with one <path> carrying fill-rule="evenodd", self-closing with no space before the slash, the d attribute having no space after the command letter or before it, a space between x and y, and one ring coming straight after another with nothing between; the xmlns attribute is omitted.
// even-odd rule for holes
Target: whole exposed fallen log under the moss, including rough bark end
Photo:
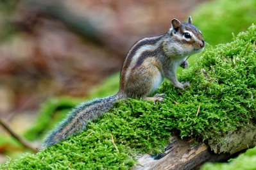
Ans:
<svg viewBox="0 0 256 170"><path fill-rule="evenodd" d="M205 162L221 162L240 151L256 145L256 127L253 125L234 130L221 139L211 139L205 143L196 139L171 137L164 153L145 154L137 161L141 165L134 169L198 169Z"/></svg>

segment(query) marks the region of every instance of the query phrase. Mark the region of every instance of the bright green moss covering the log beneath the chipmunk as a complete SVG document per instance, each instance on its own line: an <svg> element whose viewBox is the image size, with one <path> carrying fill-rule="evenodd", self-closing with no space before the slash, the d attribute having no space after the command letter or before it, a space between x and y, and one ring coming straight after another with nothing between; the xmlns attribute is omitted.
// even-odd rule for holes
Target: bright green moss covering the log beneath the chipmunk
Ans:
<svg viewBox="0 0 256 170"><path fill-rule="evenodd" d="M85 132L1 168L128 169L138 153L163 151L171 132L206 140L252 124L256 118L255 40L252 25L233 42L209 47L195 66L184 70L179 80L191 82L188 89L181 91L165 81L157 91L166 93L161 104L135 99L119 102L89 123Z"/></svg>

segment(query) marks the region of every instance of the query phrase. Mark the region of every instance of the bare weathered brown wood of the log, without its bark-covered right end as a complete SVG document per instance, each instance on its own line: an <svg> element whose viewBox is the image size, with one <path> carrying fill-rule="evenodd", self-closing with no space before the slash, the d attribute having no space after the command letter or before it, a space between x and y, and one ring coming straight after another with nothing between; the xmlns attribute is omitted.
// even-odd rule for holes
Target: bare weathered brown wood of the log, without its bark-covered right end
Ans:
<svg viewBox="0 0 256 170"><path fill-rule="evenodd" d="M171 143L160 155L143 155L135 169L197 169L205 162L219 162L230 157L230 153L216 154L205 143L194 144L195 139L171 137Z"/></svg>

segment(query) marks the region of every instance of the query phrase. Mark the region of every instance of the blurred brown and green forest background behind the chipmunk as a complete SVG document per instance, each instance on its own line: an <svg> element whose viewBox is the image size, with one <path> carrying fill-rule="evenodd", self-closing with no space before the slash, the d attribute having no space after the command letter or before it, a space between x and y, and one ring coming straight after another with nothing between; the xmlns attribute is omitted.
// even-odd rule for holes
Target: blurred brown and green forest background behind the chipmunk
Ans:
<svg viewBox="0 0 256 170"><path fill-rule="evenodd" d="M187 22L190 15L208 45L217 45L256 24L256 3L1 0L0 120L38 147L71 107L118 90L119 70L133 43L164 34L171 19ZM0 162L28 151L33 153L0 127Z"/></svg>

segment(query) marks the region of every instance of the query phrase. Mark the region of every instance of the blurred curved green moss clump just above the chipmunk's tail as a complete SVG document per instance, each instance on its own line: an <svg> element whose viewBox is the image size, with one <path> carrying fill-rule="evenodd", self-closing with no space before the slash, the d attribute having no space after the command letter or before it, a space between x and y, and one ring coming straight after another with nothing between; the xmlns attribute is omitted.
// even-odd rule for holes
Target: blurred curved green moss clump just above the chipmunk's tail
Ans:
<svg viewBox="0 0 256 170"><path fill-rule="evenodd" d="M58 97L48 100L42 105L35 126L28 130L28 132L24 134L24 137L30 141L38 139L46 130L52 128L57 121L65 118L65 115L67 115L71 108L81 102L81 99L71 97Z"/></svg>

